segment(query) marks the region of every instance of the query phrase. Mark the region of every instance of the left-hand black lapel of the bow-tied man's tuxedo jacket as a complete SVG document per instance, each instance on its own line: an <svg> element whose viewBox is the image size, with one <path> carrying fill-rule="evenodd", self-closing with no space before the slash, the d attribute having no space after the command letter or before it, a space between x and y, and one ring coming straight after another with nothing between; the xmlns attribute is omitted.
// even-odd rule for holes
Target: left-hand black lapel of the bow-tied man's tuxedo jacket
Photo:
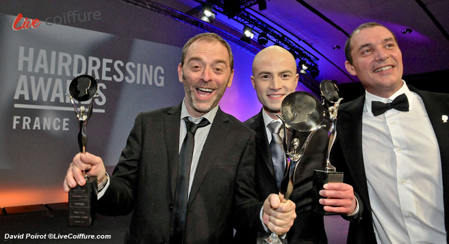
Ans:
<svg viewBox="0 0 449 244"><path fill-rule="evenodd" d="M342 150L348 169L355 185L359 189L359 194L364 202L369 203L368 185L366 183L365 166L363 165L362 152L362 116L365 95L356 98L348 103L344 109L338 113L337 128L339 127L337 138L342 145ZM337 169L338 171L338 169Z"/></svg>

